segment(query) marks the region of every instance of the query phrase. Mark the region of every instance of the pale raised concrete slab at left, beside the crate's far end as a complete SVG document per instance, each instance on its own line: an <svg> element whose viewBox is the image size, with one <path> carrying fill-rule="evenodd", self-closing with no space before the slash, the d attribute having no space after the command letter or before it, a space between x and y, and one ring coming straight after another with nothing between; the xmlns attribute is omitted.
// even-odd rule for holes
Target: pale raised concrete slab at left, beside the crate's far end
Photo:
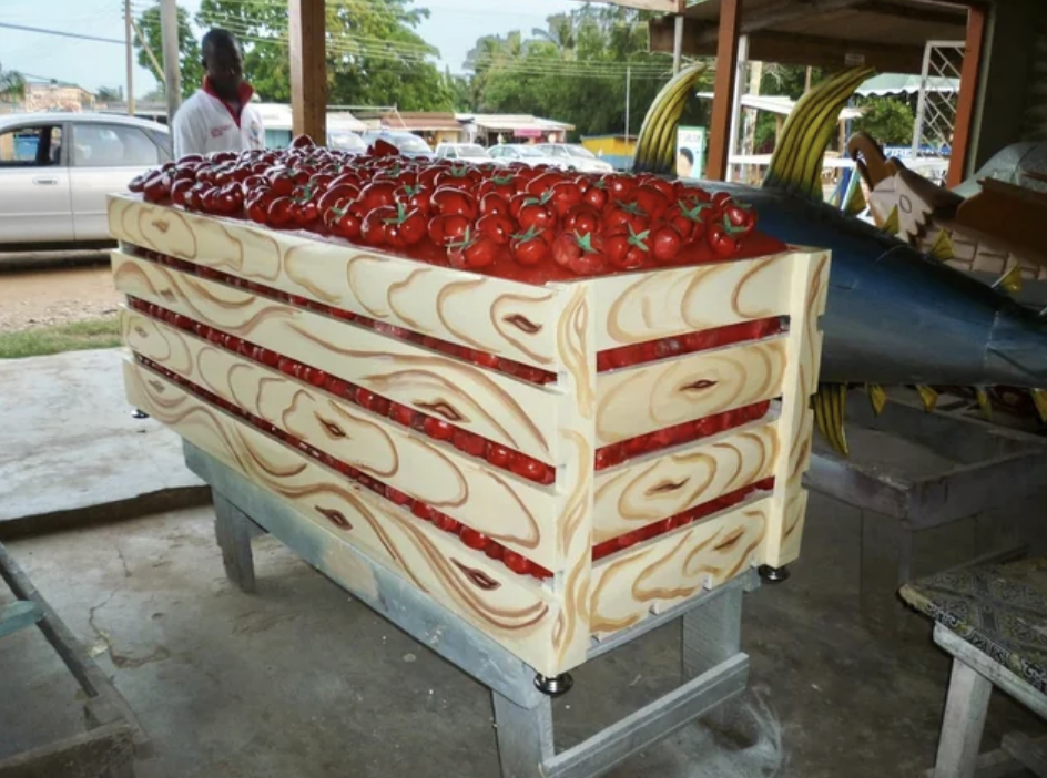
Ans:
<svg viewBox="0 0 1047 778"><path fill-rule="evenodd" d="M0 361L0 536L210 499L177 436L131 418L122 358L101 349Z"/></svg>

